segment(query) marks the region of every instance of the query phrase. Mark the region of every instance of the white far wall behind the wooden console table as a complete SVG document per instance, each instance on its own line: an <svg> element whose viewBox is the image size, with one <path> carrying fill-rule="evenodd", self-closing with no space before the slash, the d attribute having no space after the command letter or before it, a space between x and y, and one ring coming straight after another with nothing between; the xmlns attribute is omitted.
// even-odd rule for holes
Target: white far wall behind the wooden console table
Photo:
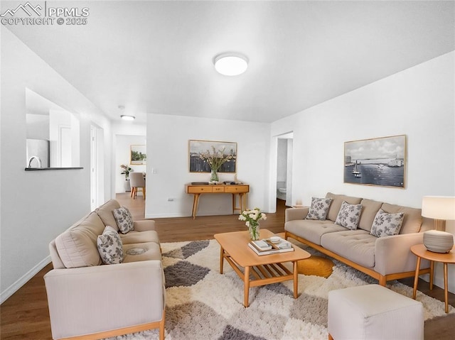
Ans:
<svg viewBox="0 0 455 340"><path fill-rule="evenodd" d="M237 180L250 185L248 206L267 212L269 192L265 183L269 177L269 124L149 114L147 218L191 216L193 195L186 194L185 184L207 182L210 173L189 172L190 139L237 142ZM152 173L152 168L156 173ZM233 179L233 174L220 174L220 181ZM217 214L232 214L230 194L201 195L198 215Z"/></svg>

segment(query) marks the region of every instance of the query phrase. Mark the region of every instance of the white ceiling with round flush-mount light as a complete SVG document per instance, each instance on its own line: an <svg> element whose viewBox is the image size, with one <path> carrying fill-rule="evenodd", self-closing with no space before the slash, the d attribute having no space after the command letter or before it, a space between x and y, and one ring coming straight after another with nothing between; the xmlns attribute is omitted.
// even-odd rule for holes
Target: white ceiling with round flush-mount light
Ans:
<svg viewBox="0 0 455 340"><path fill-rule="evenodd" d="M1 13L23 2L2 1ZM87 25L9 29L114 120L123 105L138 121L271 122L455 50L454 4L47 1L87 7ZM247 55L247 72L216 73L226 51Z"/></svg>

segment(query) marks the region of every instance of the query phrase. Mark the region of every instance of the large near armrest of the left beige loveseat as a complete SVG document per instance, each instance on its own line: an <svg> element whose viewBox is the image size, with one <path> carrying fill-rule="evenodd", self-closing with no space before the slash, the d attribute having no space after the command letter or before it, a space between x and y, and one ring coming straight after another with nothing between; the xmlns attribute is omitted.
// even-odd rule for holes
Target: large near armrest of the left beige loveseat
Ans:
<svg viewBox="0 0 455 340"><path fill-rule="evenodd" d="M161 261L53 269L44 276L53 339L163 318Z"/></svg>

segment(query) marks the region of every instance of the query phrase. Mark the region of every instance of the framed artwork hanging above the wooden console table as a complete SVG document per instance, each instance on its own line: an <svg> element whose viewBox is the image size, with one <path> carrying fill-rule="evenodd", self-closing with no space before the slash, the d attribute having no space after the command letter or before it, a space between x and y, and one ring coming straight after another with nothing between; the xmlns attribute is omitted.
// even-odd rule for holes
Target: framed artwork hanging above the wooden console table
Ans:
<svg viewBox="0 0 455 340"><path fill-rule="evenodd" d="M190 172L210 172L205 158L228 158L218 172L235 172L237 164L237 143L221 141L188 141L188 166Z"/></svg>

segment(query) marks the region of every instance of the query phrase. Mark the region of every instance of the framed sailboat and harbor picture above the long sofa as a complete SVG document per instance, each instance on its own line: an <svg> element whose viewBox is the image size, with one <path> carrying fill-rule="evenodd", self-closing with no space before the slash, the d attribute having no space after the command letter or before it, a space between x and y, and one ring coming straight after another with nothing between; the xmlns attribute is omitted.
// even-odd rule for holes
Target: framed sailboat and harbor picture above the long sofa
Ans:
<svg viewBox="0 0 455 340"><path fill-rule="evenodd" d="M344 182L405 188L406 135L344 143Z"/></svg>

